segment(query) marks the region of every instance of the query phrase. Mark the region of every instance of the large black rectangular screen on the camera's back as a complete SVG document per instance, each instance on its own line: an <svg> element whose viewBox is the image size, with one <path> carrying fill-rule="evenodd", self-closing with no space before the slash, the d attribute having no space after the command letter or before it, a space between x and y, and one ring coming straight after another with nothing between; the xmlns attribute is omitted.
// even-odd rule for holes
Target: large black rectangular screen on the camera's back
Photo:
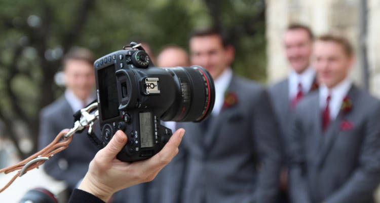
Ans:
<svg viewBox="0 0 380 203"><path fill-rule="evenodd" d="M115 65L109 65L100 69L98 71L98 81L102 119L107 120L119 116Z"/></svg>

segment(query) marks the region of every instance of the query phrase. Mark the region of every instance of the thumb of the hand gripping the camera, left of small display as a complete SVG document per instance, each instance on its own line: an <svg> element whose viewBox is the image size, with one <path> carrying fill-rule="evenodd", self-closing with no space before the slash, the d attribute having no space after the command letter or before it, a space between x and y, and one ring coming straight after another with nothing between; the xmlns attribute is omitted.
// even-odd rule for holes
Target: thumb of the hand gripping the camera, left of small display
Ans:
<svg viewBox="0 0 380 203"><path fill-rule="evenodd" d="M123 149L127 141L127 135L123 131L118 130L109 141L109 143L101 150L103 151L103 158L106 160L114 159L116 155Z"/></svg>

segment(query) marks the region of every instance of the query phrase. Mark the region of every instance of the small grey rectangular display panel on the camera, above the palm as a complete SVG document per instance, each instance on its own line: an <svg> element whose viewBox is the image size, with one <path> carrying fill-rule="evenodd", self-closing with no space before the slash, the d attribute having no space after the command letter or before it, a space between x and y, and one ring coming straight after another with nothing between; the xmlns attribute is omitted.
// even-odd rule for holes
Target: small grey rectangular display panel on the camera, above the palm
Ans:
<svg viewBox="0 0 380 203"><path fill-rule="evenodd" d="M141 148L153 147L153 126L150 112L141 112L140 116L140 142Z"/></svg>

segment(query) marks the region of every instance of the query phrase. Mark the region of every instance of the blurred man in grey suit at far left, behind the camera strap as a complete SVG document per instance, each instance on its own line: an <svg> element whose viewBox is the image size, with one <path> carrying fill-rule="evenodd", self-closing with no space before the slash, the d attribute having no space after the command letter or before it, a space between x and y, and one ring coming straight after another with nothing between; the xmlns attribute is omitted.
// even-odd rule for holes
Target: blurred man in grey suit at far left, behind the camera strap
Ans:
<svg viewBox="0 0 380 203"><path fill-rule="evenodd" d="M95 99L94 61L92 53L84 48L71 49L64 56L66 91L41 111L40 149L50 144L62 129L71 128L73 113ZM46 173L55 179L64 180L70 190L84 177L89 162L98 150L89 141L85 131L76 134L66 150L54 155L44 164Z"/></svg>

